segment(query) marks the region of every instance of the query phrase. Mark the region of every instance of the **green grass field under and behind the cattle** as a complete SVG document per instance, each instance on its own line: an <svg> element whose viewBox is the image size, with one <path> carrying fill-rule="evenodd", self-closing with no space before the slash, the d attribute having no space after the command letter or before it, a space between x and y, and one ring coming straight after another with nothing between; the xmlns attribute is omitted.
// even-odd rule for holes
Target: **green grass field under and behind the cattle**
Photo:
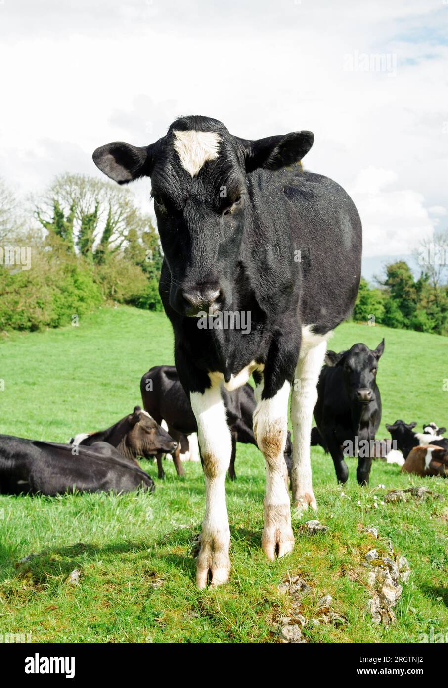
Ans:
<svg viewBox="0 0 448 688"><path fill-rule="evenodd" d="M356 341L375 347L385 336L379 365L384 423L435 420L446 425L448 338L383 327L344 324L330 347ZM79 327L12 334L0 341L0 432L66 441L77 431L107 427L139 403L139 379L151 365L172 363L172 334L163 314L104 309ZM143 466L156 480L154 495L0 496L0 634L32 633L34 642L260 643L274 642L274 622L288 614L277 590L289 573L312 592L300 613L312 619L317 599L331 594L346 623L307 623L310 643L413 643L418 634L448 632L448 481L401 475L375 462L369 488L355 479L355 461L342 491L333 462L313 450L315 495L326 533L309 537L293 519L293 555L267 563L260 550L264 462L254 447L238 445L238 480L227 482L232 533L228 585L199 592L190 549L205 504L200 464L185 464L179 480L166 463ZM379 485L384 484L385 488ZM384 504L392 488L425 484L445 501ZM341 493L344 492L344 495ZM358 504L359 502L359 504ZM396 623L375 625L366 612L361 561L383 540L377 526L410 562L412 577L396 607ZM17 565L19 559L36 555ZM79 582L67 582L74 569Z"/></svg>

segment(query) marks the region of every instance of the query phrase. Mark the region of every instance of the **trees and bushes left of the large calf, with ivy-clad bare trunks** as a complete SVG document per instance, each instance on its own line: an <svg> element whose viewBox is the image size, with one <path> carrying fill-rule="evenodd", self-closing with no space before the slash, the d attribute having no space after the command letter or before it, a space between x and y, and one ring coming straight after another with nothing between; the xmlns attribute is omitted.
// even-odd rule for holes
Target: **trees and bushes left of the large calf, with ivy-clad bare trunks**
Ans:
<svg viewBox="0 0 448 688"><path fill-rule="evenodd" d="M103 303L161 310L162 259L130 189L64 174L23 210L0 181L0 331L59 327Z"/></svg>

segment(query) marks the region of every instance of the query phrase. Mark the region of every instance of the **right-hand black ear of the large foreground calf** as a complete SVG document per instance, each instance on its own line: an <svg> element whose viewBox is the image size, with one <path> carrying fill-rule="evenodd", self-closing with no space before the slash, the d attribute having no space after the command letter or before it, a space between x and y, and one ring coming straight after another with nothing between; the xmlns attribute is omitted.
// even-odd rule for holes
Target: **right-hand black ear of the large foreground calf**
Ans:
<svg viewBox="0 0 448 688"><path fill-rule="evenodd" d="M268 136L256 141L243 140L246 171L256 169L279 170L300 162L313 145L311 131L293 131L284 136Z"/></svg>

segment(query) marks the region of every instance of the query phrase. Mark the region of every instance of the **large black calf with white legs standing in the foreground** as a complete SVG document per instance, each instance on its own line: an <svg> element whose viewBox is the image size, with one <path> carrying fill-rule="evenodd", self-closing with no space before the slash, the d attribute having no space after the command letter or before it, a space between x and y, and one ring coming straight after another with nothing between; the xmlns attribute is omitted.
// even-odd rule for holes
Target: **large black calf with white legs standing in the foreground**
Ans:
<svg viewBox="0 0 448 688"><path fill-rule="evenodd" d="M298 164L313 133L248 140L201 116L176 120L148 146L106 144L96 165L119 184L151 179L164 264L159 292L175 335L175 364L190 395L204 462L206 506L197 585L229 577L225 473L232 440L221 385L256 382L254 433L265 455L269 559L293 550L283 460L291 381L292 491L316 507L310 432L326 338L352 311L361 275L361 221L332 180ZM204 327L210 314L231 324Z"/></svg>

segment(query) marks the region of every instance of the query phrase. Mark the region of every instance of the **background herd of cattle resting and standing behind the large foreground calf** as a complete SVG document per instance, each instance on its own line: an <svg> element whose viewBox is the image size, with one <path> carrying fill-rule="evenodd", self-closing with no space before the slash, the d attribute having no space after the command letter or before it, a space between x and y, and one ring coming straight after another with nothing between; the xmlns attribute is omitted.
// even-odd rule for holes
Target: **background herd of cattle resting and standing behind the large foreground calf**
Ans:
<svg viewBox="0 0 448 688"><path fill-rule="evenodd" d="M344 456L350 453L344 448L359 447L363 440L370 443L370 451L355 454L360 484L368 483L374 458L399 464L407 473L448 477L448 439L443 438L444 427L429 422L423 424L423 433L418 433L414 431L416 422L396 420L386 424L392 440L375 440L381 422L376 376L383 351L384 340L373 351L357 343L339 354L327 352L317 385L317 425L311 431L311 444L320 444L331 454L339 482L348 478ZM158 477L163 478L162 460L166 455L171 456L177 474L183 475L183 461L199 461L200 454L197 421L176 368L152 367L142 376L140 390L144 409L136 406L106 430L80 433L67 444L0 436L0 493L54 496L75 489L154 491L154 481L137 459L155 458ZM256 400L249 383L234 391L222 387L221 394L232 434L229 477L234 480L236 443L256 446L252 425ZM291 457L288 433L284 461L290 477Z"/></svg>

